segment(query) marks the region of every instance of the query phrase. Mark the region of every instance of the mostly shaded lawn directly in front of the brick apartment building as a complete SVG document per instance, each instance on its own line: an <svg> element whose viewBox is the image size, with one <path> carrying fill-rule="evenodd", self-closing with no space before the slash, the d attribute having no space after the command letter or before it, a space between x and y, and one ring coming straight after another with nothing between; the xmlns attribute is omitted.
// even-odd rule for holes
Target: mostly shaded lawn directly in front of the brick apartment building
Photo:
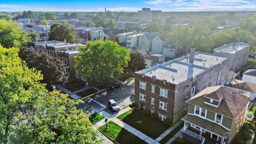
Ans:
<svg viewBox="0 0 256 144"><path fill-rule="evenodd" d="M155 121L154 119L144 116L139 110L127 111L126 113L117 117L123 122L129 124L135 129L148 135L149 137L156 139L170 126L164 125L162 122Z"/></svg>

